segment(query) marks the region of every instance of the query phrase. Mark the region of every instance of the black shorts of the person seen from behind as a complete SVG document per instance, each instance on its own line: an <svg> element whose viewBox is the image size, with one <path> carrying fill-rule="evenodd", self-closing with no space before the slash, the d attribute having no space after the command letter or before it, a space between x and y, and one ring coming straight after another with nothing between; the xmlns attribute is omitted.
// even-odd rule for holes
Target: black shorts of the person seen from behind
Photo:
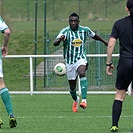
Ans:
<svg viewBox="0 0 133 133"><path fill-rule="evenodd" d="M133 81L133 59L120 58L117 66L117 77L115 87L118 90L128 89Z"/></svg>

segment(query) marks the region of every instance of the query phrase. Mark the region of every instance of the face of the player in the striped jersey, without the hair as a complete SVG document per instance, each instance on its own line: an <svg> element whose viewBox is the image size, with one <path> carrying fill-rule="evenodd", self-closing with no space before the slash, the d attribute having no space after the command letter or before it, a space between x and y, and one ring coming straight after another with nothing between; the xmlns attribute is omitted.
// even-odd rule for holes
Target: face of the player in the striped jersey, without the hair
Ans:
<svg viewBox="0 0 133 133"><path fill-rule="evenodd" d="M78 30L78 25L80 22L78 17L70 17L68 22L69 22L70 28L73 31Z"/></svg>

